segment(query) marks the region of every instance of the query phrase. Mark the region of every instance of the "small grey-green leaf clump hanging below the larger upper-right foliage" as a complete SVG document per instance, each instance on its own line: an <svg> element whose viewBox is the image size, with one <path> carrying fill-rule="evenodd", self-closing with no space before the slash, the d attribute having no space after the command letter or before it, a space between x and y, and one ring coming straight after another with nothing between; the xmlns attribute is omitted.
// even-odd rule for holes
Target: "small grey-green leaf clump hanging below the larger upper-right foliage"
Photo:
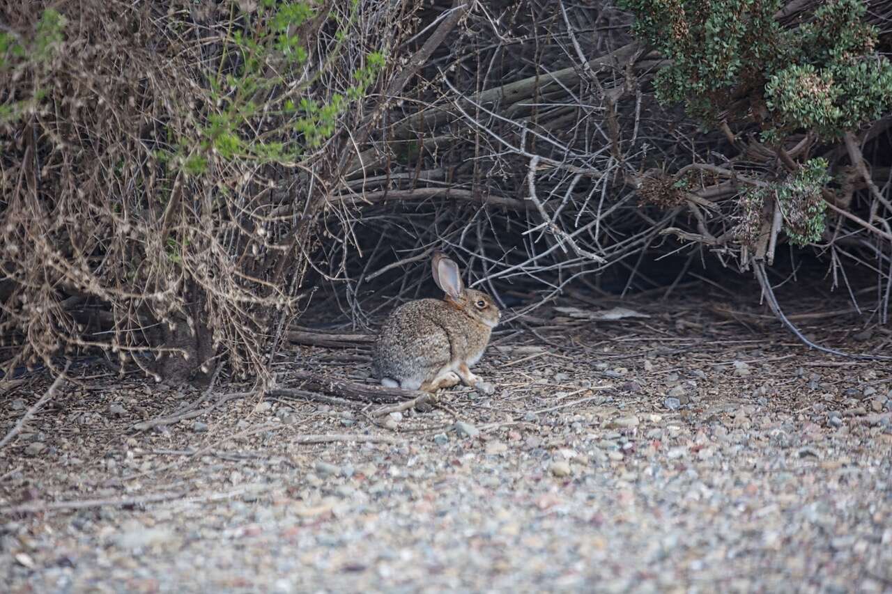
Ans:
<svg viewBox="0 0 892 594"><path fill-rule="evenodd" d="M821 190L830 181L828 163L818 158L805 161L787 180L774 187L783 214L784 231L795 245L807 245L821 239L827 227Z"/></svg>

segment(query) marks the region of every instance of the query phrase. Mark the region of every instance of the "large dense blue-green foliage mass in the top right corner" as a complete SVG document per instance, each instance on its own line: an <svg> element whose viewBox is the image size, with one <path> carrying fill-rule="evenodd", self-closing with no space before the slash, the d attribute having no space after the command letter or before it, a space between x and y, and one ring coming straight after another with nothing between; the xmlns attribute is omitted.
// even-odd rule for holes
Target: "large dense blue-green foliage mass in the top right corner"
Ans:
<svg viewBox="0 0 892 594"><path fill-rule="evenodd" d="M620 0L635 13L634 33L673 62L657 73L658 99L684 103L706 124L747 94L767 108L766 141L803 128L836 137L888 111L892 64L874 54L877 30L862 21L863 0L822 4L791 30L773 19L782 4ZM742 115L749 107L739 105Z"/></svg>

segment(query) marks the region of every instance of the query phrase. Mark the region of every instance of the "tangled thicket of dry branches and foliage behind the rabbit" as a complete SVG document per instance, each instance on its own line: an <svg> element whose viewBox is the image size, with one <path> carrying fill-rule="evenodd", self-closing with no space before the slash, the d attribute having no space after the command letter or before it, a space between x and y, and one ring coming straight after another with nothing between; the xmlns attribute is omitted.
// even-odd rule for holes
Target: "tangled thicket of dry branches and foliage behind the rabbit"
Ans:
<svg viewBox="0 0 892 594"><path fill-rule="evenodd" d="M368 324L434 248L543 300L814 252L888 322L888 0L34 4L0 12L7 370L265 380L316 288Z"/></svg>

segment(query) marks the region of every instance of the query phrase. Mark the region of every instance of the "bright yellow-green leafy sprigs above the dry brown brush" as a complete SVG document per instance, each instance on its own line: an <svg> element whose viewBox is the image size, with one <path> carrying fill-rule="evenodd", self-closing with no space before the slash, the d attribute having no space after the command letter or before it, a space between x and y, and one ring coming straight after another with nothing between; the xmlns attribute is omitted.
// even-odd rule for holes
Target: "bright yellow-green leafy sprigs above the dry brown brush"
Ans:
<svg viewBox="0 0 892 594"><path fill-rule="evenodd" d="M353 5L351 18L359 6ZM330 19L338 28L335 38L342 40L352 24L319 14L317 3L308 0L264 0L252 12L235 15L225 59L207 74L208 99L215 109L197 138L178 139L176 162L187 174L202 175L215 159L294 163L335 134L339 119L351 102L366 96L385 61L384 54L368 54L351 73L345 93L320 100L325 95L313 88L318 74L307 74L310 56L301 37L320 18ZM337 43L326 60L334 59L343 41Z"/></svg>

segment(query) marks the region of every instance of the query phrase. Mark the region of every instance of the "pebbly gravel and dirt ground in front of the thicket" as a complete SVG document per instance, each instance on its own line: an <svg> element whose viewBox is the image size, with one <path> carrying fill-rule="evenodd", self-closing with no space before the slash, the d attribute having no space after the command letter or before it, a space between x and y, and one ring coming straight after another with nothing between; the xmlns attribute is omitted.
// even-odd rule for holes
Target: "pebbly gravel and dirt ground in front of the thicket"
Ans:
<svg viewBox="0 0 892 594"><path fill-rule="evenodd" d="M427 412L78 367L0 450L3 590L892 592L892 364L704 293L537 309L478 366L494 395ZM788 302L892 352L846 296ZM586 319L615 306L647 317ZM285 386L368 376L363 349L286 355ZM5 384L0 438L50 381Z"/></svg>

